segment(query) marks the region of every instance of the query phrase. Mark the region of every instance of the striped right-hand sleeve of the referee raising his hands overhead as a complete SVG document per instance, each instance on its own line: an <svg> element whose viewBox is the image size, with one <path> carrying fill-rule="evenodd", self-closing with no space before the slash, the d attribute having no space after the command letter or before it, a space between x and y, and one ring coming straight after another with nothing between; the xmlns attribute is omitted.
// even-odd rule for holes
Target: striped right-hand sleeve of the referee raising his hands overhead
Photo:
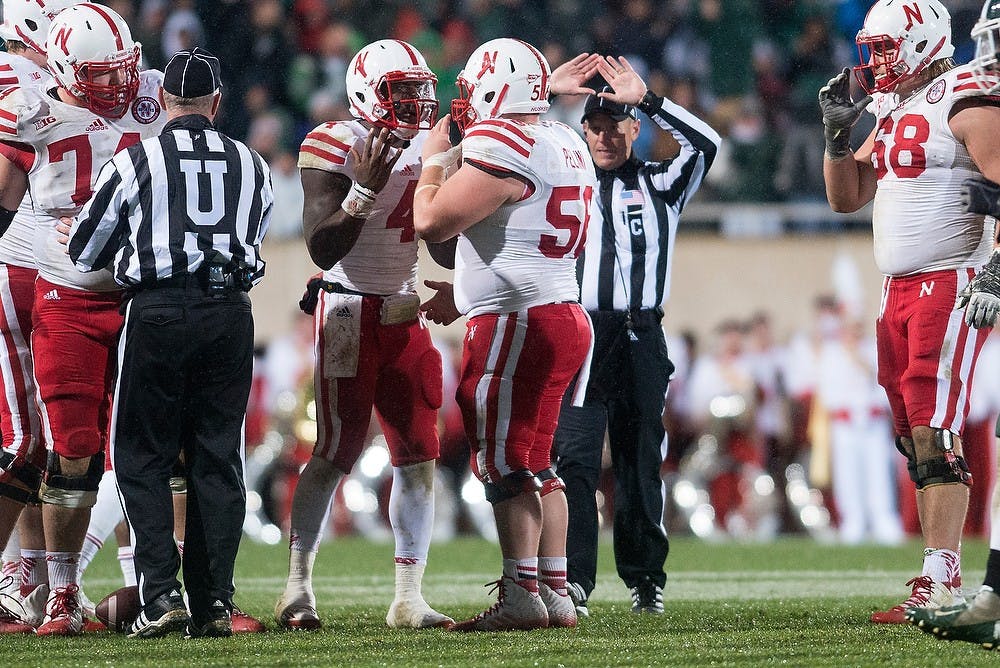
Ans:
<svg viewBox="0 0 1000 668"><path fill-rule="evenodd" d="M653 187L680 210L701 185L722 138L708 123L652 92L646 93L638 107L681 146L677 157L664 160L651 172Z"/></svg>

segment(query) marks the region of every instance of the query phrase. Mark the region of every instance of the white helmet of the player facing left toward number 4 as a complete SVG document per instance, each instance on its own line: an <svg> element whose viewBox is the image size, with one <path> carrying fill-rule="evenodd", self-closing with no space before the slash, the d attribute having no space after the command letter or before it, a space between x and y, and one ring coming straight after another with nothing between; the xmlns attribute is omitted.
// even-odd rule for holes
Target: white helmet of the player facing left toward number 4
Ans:
<svg viewBox="0 0 1000 668"><path fill-rule="evenodd" d="M459 99L451 117L459 129L504 114L542 114L549 110L552 70L545 56L518 39L502 37L472 52L458 74Z"/></svg>

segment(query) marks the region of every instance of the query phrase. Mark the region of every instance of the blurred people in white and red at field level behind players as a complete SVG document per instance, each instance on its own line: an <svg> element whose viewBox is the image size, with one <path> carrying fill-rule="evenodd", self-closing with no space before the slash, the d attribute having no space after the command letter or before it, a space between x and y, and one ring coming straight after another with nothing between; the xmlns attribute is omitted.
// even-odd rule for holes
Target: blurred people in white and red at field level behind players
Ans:
<svg viewBox="0 0 1000 668"><path fill-rule="evenodd" d="M859 319L850 304L828 295L816 297L813 316L808 329L786 339L774 332L766 312L722 321L703 340L691 332L668 334L676 366L664 411L669 446L663 466L669 496L665 521L671 532L738 540L808 534L847 544L890 545L919 535L913 483L893 445L888 402L875 376L870 323ZM259 351L247 422L248 444L281 440L280 455L258 487L267 506L263 514L279 526L287 521L290 482L315 436L309 429L310 321L303 317L298 324ZM469 446L452 398L460 348L449 341L435 343L445 360L437 535L489 534L488 523L478 522L475 497L468 496L475 485L465 488L463 498L463 483L470 480ZM979 365L966 430L966 452L976 476L967 536L989 532L1000 336L989 338ZM377 426L370 440L377 452L384 450ZM368 485L374 494L371 507L353 512L357 504L345 500L342 491L330 530L384 538L387 525L379 518L384 507L374 504L386 502L376 497L388 491L388 470L354 477L354 490ZM604 477L601 516L608 528L608 461ZM350 494L351 485L345 488ZM484 509L485 504L479 511Z"/></svg>

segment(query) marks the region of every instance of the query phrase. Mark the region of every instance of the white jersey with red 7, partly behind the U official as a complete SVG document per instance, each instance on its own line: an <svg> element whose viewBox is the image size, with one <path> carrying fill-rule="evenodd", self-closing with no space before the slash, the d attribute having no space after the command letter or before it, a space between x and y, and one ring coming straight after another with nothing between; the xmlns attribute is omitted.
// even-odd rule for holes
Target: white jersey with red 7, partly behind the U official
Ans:
<svg viewBox="0 0 1000 668"><path fill-rule="evenodd" d="M163 74L141 73L139 93L125 115L106 118L55 97L44 87L10 88L0 93L0 140L13 142L13 157L28 174L34 206L34 257L38 274L78 290L119 290L110 271L82 273L57 241L60 216L75 216L90 199L97 175L123 148L160 134L167 114L160 107ZM9 154L8 154L9 155Z"/></svg>

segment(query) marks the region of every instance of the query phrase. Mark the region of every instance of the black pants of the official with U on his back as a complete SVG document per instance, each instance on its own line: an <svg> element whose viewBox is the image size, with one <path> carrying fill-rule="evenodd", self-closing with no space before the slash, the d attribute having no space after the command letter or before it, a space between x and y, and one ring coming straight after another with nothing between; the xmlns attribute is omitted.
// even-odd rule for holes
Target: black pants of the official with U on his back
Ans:
<svg viewBox="0 0 1000 668"><path fill-rule="evenodd" d="M184 583L195 622L232 606L246 512L243 424L253 371L244 292L199 287L135 294L118 345L112 463L132 528L143 605L179 589L170 476L187 471Z"/></svg>

